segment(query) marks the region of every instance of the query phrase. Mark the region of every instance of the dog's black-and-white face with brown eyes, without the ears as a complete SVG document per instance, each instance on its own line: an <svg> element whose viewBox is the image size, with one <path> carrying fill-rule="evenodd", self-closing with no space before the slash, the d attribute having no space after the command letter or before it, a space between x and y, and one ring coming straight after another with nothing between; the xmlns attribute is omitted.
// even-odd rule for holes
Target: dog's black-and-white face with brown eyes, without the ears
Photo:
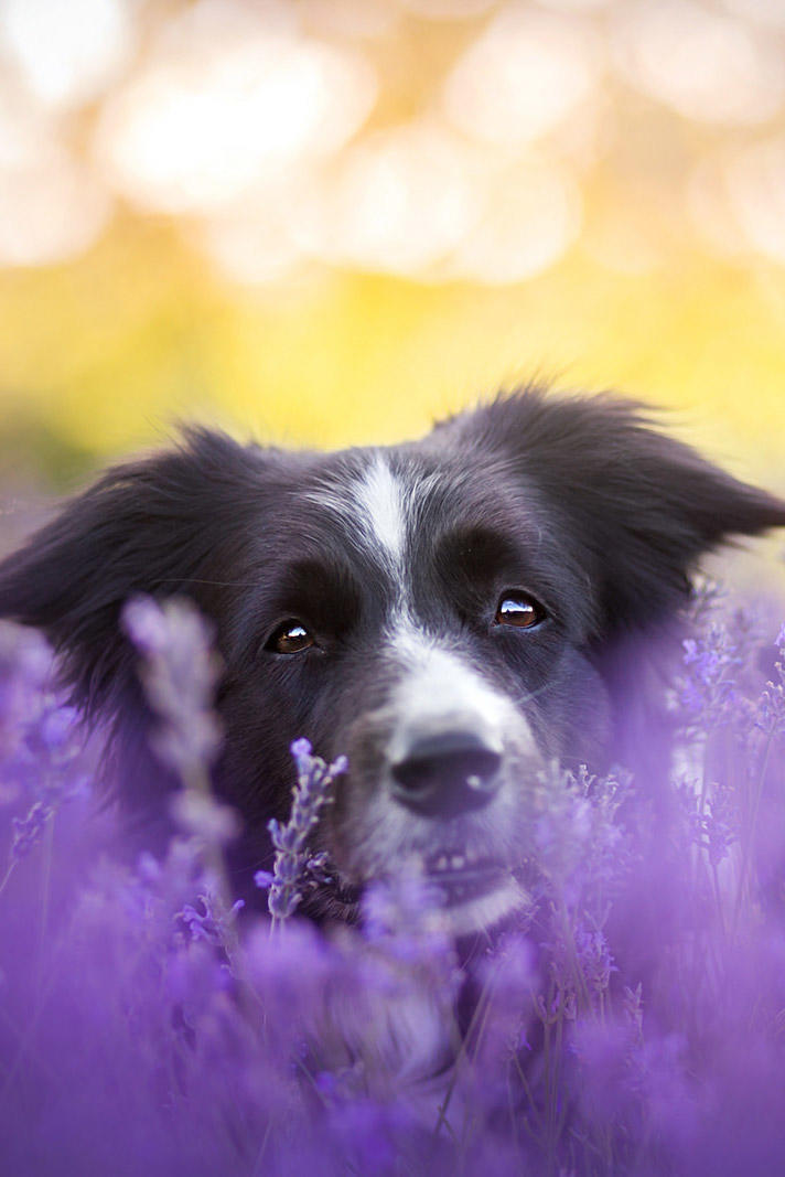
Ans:
<svg viewBox="0 0 785 1177"><path fill-rule="evenodd" d="M254 528L224 643L227 777L251 753L286 780L302 732L346 753L320 831L341 879L413 858L455 927L497 919L543 760L590 759L608 726L554 512L508 464L410 446L308 459L275 516Z"/></svg>

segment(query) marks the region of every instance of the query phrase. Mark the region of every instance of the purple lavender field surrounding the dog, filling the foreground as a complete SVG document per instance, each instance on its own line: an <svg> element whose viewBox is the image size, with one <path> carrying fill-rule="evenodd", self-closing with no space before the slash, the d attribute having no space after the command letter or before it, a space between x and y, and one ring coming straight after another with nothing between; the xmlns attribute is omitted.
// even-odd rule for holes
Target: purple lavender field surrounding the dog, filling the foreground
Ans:
<svg viewBox="0 0 785 1177"><path fill-rule="evenodd" d="M533 791L530 910L468 945L415 864L301 916L342 763L293 746L255 910L209 793L219 667L182 603L125 614L182 778L124 846L42 640L0 626L0 1171L771 1173L785 1164L785 626L700 591L666 687L666 817L619 766ZM656 852L652 829L657 830ZM138 834L137 834L138 840ZM264 866L270 870L262 869ZM272 913L272 915L270 915ZM435 1062L434 1062L435 1060Z"/></svg>

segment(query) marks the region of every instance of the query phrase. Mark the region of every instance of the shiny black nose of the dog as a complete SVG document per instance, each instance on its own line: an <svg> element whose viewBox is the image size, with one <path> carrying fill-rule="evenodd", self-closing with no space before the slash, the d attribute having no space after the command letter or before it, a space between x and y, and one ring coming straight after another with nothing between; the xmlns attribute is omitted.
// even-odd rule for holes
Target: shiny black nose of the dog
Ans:
<svg viewBox="0 0 785 1177"><path fill-rule="evenodd" d="M481 809L499 789L501 757L471 732L417 740L392 765L393 793L415 813L454 817Z"/></svg>

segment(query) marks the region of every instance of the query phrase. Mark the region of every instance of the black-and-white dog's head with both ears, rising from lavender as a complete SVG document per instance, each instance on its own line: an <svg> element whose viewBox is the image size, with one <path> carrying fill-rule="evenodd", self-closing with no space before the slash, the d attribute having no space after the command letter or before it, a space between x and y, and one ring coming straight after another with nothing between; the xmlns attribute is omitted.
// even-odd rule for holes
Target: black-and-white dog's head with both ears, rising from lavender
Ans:
<svg viewBox="0 0 785 1177"><path fill-rule="evenodd" d="M162 811L119 617L139 592L194 599L225 664L218 783L255 865L305 734L348 756L320 830L346 887L417 858L463 932L518 903L543 763L613 750L620 652L674 613L701 552L776 525L785 504L636 406L526 390L390 448L187 432L0 566L0 614L48 633L80 701L114 716L126 802Z"/></svg>

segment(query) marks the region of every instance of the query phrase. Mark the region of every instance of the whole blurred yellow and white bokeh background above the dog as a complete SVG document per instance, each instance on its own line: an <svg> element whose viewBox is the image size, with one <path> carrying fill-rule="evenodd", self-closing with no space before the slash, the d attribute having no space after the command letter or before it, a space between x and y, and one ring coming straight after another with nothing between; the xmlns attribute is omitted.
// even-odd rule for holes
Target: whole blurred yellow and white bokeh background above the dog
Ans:
<svg viewBox="0 0 785 1177"><path fill-rule="evenodd" d="M784 325L785 0L0 0L6 486L539 374L785 490Z"/></svg>

